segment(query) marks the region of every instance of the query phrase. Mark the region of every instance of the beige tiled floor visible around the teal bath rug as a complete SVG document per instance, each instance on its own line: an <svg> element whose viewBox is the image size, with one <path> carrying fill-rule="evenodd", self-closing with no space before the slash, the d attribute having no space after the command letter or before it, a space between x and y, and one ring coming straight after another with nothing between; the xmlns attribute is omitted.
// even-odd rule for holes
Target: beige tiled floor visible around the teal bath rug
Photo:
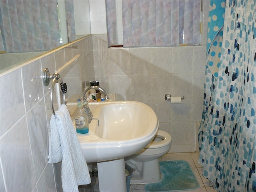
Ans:
<svg viewBox="0 0 256 192"><path fill-rule="evenodd" d="M196 152L168 153L162 157L162 161L168 161L168 160L186 160L190 164L192 170L194 171L194 174L196 175L196 178L200 184L200 188L196 190L185 191L185 192L215 192L211 182L201 175L202 166L197 163L198 154L196 154ZM144 192L144 185L131 184L130 192Z"/></svg>

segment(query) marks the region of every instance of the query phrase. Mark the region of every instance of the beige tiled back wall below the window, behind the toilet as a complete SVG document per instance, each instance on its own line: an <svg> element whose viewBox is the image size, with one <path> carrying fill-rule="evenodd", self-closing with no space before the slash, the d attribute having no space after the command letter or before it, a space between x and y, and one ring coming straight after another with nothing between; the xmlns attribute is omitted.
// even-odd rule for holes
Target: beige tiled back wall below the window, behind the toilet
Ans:
<svg viewBox="0 0 256 192"><path fill-rule="evenodd" d="M107 35L94 35L95 79L111 93L148 104L159 129L172 136L170 152L196 151L196 122L202 118L205 47L108 49ZM96 42L94 40L93 42ZM103 48L103 49L102 49ZM171 105L165 94L184 96Z"/></svg>

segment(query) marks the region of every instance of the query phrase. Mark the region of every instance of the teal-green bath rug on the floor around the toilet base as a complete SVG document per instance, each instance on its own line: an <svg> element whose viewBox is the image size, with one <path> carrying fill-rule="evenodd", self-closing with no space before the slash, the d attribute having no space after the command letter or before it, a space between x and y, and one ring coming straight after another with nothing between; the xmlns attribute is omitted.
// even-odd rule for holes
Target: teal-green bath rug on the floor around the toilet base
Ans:
<svg viewBox="0 0 256 192"><path fill-rule="evenodd" d="M160 161L162 180L145 185L146 192L186 191L199 188L199 183L186 161Z"/></svg>

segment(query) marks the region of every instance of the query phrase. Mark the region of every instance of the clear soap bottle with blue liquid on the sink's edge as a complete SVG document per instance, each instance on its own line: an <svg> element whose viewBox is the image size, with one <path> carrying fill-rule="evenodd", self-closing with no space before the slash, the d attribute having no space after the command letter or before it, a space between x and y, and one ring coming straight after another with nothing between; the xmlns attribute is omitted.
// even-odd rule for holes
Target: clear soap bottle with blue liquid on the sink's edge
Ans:
<svg viewBox="0 0 256 192"><path fill-rule="evenodd" d="M80 102L78 102L76 106L75 124L76 124L76 132L82 133L82 134L89 132L88 117L84 111L83 104Z"/></svg>

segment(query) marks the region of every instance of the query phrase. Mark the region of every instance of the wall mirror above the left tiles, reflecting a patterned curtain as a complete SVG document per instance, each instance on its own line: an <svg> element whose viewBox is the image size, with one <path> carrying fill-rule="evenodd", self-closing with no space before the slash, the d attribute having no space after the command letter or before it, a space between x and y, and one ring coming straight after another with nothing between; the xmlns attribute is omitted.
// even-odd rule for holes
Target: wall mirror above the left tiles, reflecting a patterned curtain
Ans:
<svg viewBox="0 0 256 192"><path fill-rule="evenodd" d="M1 0L0 73L91 34L89 0Z"/></svg>

